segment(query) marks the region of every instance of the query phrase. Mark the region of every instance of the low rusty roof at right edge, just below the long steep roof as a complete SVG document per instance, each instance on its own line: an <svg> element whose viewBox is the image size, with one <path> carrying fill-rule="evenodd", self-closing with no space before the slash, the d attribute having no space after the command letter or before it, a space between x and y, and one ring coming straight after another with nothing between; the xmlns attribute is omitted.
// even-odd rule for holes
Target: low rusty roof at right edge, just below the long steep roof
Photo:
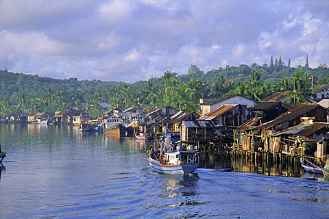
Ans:
<svg viewBox="0 0 329 219"><path fill-rule="evenodd" d="M308 137L316 133L317 131L323 129L324 127L329 127L329 123L310 123L310 124L300 124L294 127L289 127L273 133L272 136L281 136L283 134L292 134L293 136L304 136Z"/></svg>

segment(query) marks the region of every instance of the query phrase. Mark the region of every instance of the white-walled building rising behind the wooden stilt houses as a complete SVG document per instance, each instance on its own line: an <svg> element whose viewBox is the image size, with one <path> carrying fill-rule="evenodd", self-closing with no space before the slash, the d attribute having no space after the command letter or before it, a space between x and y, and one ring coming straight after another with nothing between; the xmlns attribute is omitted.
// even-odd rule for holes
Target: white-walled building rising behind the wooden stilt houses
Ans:
<svg viewBox="0 0 329 219"><path fill-rule="evenodd" d="M219 99L200 99L199 103L202 110L202 115L205 115L211 112L212 110L217 109L223 104L240 104L249 108L257 105L258 101L254 101L244 96L230 94L223 96Z"/></svg>

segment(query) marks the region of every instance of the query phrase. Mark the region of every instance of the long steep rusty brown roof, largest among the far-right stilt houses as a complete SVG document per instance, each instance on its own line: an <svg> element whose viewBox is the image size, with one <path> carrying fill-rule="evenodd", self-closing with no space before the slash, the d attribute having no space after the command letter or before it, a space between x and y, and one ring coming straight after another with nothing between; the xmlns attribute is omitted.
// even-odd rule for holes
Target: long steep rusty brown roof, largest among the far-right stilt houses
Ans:
<svg viewBox="0 0 329 219"><path fill-rule="evenodd" d="M293 120L298 116L302 116L303 114L306 114L307 112L310 112L317 107L320 107L317 103L301 103L300 105L291 108L287 112L280 114L275 119L258 126L257 129L269 129L275 125L279 125L280 123L284 123Z"/></svg>

